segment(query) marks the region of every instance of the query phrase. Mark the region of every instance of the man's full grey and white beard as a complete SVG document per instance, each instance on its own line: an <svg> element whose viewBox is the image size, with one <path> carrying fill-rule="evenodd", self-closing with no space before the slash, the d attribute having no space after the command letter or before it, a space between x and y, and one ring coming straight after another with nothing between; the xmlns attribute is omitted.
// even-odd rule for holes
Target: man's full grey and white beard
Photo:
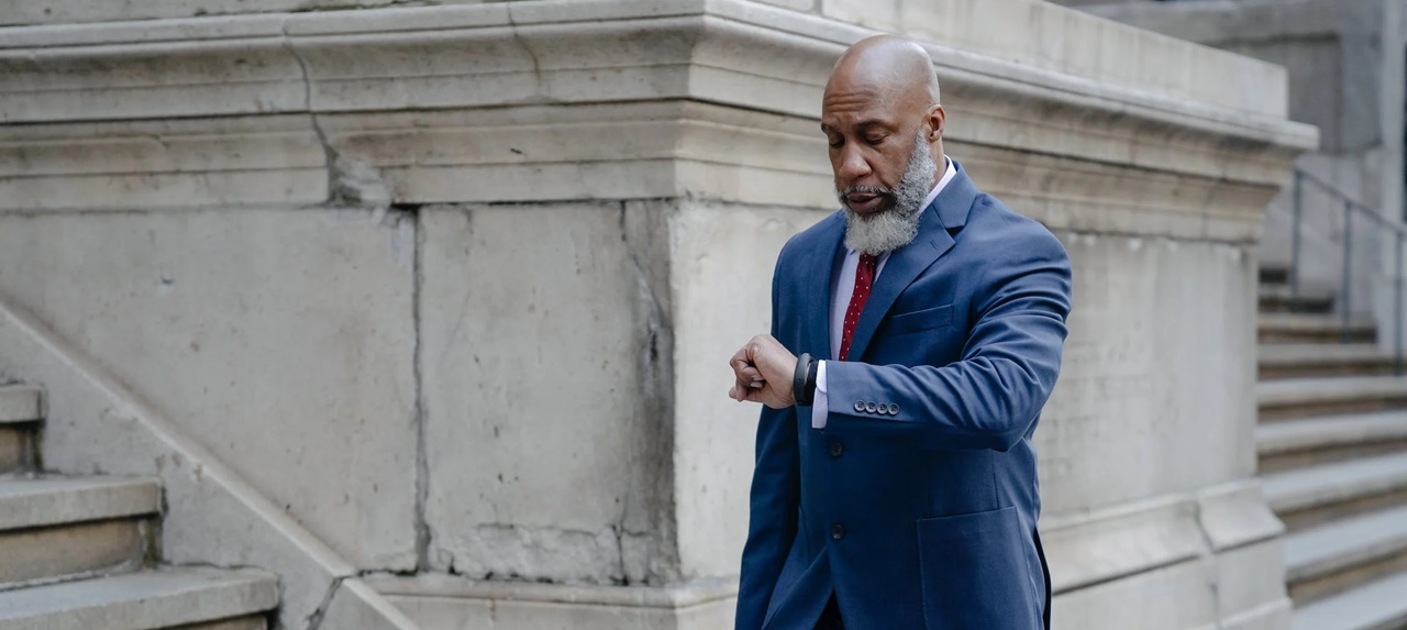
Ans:
<svg viewBox="0 0 1407 630"><path fill-rule="evenodd" d="M919 217L923 214L923 200L933 190L934 176L938 165L929 153L929 143L923 139L923 132L917 134L913 143L913 153L909 155L909 165L903 169L903 179L893 188L877 186L851 186L837 193L840 205L846 210L846 248L868 255L893 252L913 242L919 235ZM878 194L889 200L889 207L870 217L862 217L850 210L846 195Z"/></svg>

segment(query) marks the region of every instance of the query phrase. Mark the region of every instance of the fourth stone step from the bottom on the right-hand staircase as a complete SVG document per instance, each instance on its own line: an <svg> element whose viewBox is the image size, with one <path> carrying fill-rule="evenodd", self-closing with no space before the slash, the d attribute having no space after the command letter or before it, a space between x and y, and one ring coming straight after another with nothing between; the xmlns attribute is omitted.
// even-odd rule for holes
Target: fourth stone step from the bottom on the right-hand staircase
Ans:
<svg viewBox="0 0 1407 630"><path fill-rule="evenodd" d="M1261 474L1407 451L1407 409L1266 422L1255 446Z"/></svg>

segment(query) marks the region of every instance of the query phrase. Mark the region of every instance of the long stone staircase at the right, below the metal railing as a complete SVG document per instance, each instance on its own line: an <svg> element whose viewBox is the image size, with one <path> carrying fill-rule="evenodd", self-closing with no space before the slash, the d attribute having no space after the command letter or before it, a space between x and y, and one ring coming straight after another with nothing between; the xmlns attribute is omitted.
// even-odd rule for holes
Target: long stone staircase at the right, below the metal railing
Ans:
<svg viewBox="0 0 1407 630"><path fill-rule="evenodd" d="M1294 629L1407 629L1407 378L1332 308L1262 270L1255 439Z"/></svg>

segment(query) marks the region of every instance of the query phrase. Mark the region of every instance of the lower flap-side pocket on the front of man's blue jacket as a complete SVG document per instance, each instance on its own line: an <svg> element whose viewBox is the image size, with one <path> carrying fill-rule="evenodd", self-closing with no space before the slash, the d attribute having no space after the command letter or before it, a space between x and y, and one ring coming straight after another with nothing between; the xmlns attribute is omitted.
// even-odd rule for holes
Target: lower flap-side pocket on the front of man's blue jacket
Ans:
<svg viewBox="0 0 1407 630"><path fill-rule="evenodd" d="M1040 630L1016 508L919 520L929 630Z"/></svg>

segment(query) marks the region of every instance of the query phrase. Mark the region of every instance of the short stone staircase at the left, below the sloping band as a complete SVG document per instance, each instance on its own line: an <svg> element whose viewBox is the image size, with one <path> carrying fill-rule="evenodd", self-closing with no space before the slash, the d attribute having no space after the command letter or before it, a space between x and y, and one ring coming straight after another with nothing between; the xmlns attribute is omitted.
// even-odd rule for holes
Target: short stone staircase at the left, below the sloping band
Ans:
<svg viewBox="0 0 1407 630"><path fill-rule="evenodd" d="M0 387L0 630L265 630L274 575L163 567L155 480L42 474L42 394Z"/></svg>

